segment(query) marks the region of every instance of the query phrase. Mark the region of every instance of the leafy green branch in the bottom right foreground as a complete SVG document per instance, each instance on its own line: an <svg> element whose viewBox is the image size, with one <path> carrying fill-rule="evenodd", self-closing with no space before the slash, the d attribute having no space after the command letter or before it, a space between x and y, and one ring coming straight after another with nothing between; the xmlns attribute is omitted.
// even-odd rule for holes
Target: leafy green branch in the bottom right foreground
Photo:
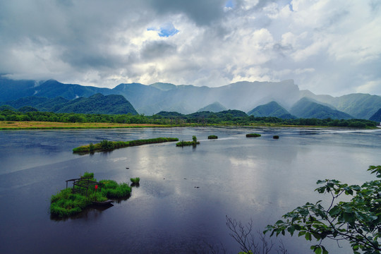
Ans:
<svg viewBox="0 0 381 254"><path fill-rule="evenodd" d="M368 171L381 178L381 166L370 166ZM353 253L381 253L381 180L367 181L362 186L341 183L337 180L317 181L323 184L315 191L331 195L328 208L323 207L321 200L312 204L296 207L295 210L283 215L283 220L274 225L268 225L264 233L271 235L285 234L291 236L298 231L298 236L304 236L307 241L313 238L319 241L311 246L316 254L328 253L322 246L325 238L351 243ZM340 195L351 195L350 201L338 201Z"/></svg>

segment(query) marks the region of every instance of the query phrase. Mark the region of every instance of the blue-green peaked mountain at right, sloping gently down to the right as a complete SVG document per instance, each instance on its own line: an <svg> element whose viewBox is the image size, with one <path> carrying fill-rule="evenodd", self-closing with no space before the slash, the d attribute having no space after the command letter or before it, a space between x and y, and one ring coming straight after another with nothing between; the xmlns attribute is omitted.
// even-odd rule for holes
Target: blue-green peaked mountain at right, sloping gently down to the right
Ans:
<svg viewBox="0 0 381 254"><path fill-rule="evenodd" d="M290 113L304 119L353 119L349 114L313 102L313 100L307 97L303 97L296 102L291 108Z"/></svg>

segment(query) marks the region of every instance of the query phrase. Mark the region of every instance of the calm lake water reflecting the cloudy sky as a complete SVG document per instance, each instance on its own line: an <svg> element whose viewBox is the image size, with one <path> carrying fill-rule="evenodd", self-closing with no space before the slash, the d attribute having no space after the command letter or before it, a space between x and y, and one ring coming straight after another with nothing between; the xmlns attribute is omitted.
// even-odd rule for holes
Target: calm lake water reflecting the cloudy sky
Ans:
<svg viewBox="0 0 381 254"><path fill-rule="evenodd" d="M260 133L260 138L246 138ZM173 137L197 147L161 143L94 155L79 145L106 140ZM217 135L217 140L207 140ZM279 135L279 140L272 138ZM0 131L0 253L238 253L226 215L254 231L282 214L329 196L318 179L361 184L381 164L381 130L328 128L123 128ZM126 169L128 168L128 169ZM77 217L50 217L50 197L85 171L129 182L131 198ZM282 239L289 253L312 253L304 238ZM326 241L329 253L349 253Z"/></svg>

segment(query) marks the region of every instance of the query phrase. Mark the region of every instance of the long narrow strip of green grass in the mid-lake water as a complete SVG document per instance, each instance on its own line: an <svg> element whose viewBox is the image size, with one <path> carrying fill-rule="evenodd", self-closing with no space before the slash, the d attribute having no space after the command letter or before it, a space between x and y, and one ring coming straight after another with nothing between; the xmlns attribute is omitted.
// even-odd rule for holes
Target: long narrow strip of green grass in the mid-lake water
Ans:
<svg viewBox="0 0 381 254"><path fill-rule="evenodd" d="M101 143L97 143L97 144L90 143L89 145L82 145L80 147L75 147L73 149L73 152L85 154L88 152L111 151L111 150L122 148L122 147L131 147L131 146L136 146L136 145L174 142L174 141L179 141L179 138L151 138L151 139L146 139L146 140L131 140L131 141L102 140Z"/></svg>

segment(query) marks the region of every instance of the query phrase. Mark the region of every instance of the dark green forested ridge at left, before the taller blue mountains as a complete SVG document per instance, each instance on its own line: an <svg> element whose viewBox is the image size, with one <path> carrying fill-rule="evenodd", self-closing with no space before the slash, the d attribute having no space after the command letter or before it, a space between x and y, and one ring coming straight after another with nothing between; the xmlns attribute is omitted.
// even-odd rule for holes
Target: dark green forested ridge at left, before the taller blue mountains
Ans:
<svg viewBox="0 0 381 254"><path fill-rule="evenodd" d="M130 102L122 95L95 94L88 98L65 99L63 97L25 97L15 101L0 102L15 109L34 107L39 111L56 113L83 113L83 114L138 114Z"/></svg>

